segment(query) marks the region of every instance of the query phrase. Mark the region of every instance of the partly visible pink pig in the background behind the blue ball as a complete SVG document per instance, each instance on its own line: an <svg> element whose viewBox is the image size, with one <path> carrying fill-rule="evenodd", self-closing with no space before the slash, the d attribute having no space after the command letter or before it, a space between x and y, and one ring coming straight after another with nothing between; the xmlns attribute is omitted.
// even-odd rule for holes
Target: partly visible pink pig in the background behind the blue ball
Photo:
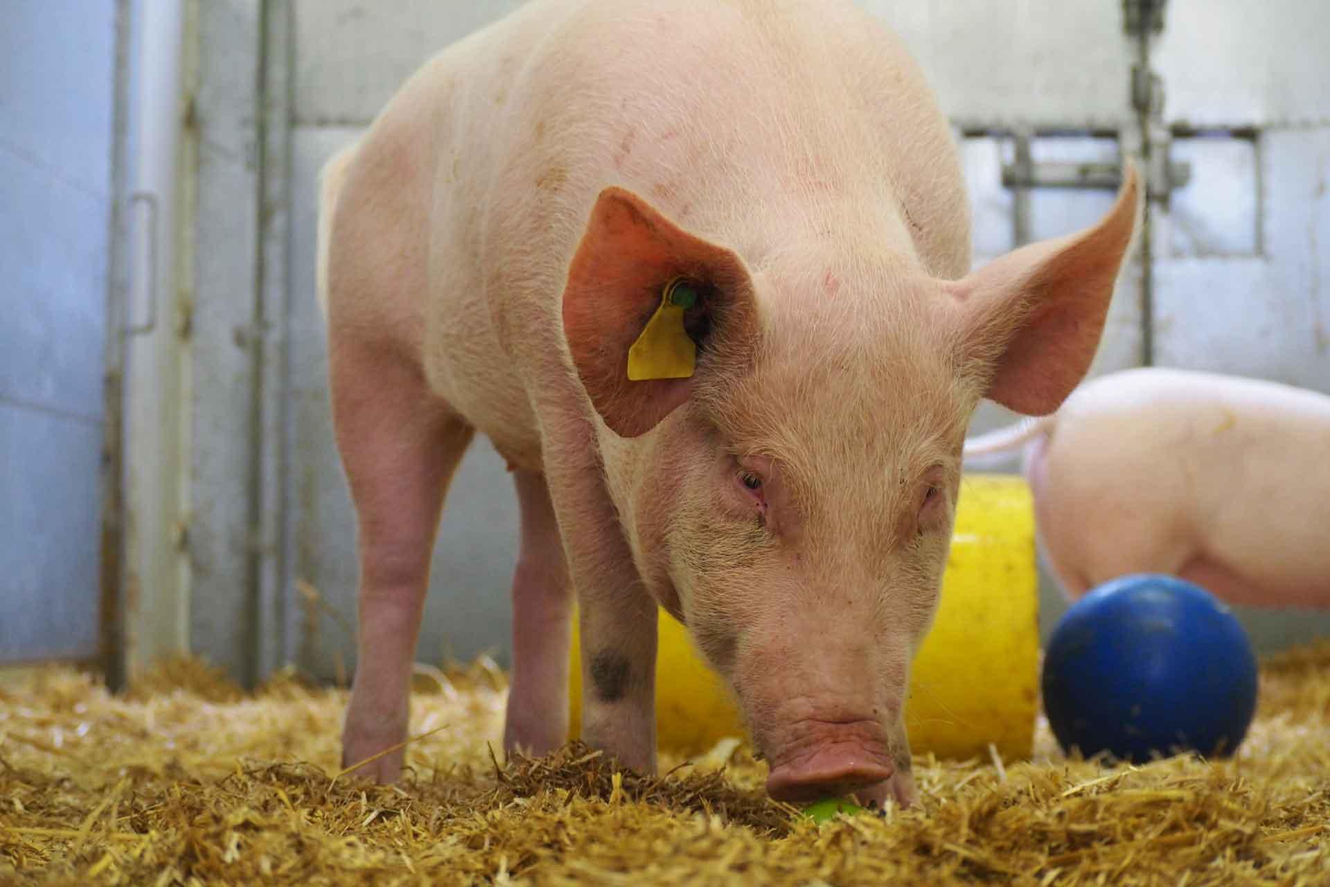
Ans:
<svg viewBox="0 0 1330 887"><path fill-rule="evenodd" d="M1330 395L1162 367L1099 376L972 438L1024 449L1040 549L1071 598L1168 573L1230 604L1330 609Z"/></svg>

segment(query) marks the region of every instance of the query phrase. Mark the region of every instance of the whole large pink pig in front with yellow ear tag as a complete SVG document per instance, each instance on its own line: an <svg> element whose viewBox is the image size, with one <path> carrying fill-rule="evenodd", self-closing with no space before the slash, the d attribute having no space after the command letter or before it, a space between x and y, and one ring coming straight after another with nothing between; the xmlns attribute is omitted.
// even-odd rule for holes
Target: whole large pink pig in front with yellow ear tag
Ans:
<svg viewBox="0 0 1330 887"><path fill-rule="evenodd" d="M947 120L849 1L535 0L442 51L321 185L360 569L343 759L406 738L479 432L520 505L505 747L565 741L576 593L583 739L621 766L656 766L664 608L771 797L908 803L971 412L1080 382L1137 211L1129 168L1097 225L972 270ZM657 319L692 363L629 378Z"/></svg>

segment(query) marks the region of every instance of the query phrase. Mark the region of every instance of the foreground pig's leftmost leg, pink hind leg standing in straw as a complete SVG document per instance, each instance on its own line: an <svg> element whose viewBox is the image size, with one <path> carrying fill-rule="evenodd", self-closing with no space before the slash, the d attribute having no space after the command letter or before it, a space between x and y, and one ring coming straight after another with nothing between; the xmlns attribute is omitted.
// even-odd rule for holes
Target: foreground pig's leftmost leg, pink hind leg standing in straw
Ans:
<svg viewBox="0 0 1330 887"><path fill-rule="evenodd" d="M359 636L342 734L350 766L406 739L439 512L473 432L399 350L354 332L330 330L330 382L359 529ZM398 749L358 773L392 782L402 761Z"/></svg>

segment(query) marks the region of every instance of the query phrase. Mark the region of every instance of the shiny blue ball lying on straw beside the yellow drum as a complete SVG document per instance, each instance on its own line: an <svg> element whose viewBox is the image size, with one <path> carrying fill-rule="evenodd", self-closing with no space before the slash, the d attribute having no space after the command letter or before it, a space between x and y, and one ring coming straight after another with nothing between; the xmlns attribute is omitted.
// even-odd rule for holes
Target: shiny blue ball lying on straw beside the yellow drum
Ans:
<svg viewBox="0 0 1330 887"><path fill-rule="evenodd" d="M1105 582L1044 652L1044 710L1065 751L1149 761L1233 754L1256 713L1256 656L1229 608L1172 576Z"/></svg>

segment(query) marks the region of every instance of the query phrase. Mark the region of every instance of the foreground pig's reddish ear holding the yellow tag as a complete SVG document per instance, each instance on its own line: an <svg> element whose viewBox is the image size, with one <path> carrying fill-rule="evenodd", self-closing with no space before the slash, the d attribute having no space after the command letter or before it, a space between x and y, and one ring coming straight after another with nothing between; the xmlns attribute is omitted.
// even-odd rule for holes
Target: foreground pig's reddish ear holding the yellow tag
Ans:
<svg viewBox="0 0 1330 887"><path fill-rule="evenodd" d="M682 322L678 314L668 319L670 334L696 346L696 371L630 380L628 351L661 307L666 286L680 278L696 302ZM614 434L636 438L688 400L714 352L732 350L725 346L751 328L753 283L730 250L684 231L632 191L606 188L569 265L563 311L568 350L592 406Z"/></svg>

